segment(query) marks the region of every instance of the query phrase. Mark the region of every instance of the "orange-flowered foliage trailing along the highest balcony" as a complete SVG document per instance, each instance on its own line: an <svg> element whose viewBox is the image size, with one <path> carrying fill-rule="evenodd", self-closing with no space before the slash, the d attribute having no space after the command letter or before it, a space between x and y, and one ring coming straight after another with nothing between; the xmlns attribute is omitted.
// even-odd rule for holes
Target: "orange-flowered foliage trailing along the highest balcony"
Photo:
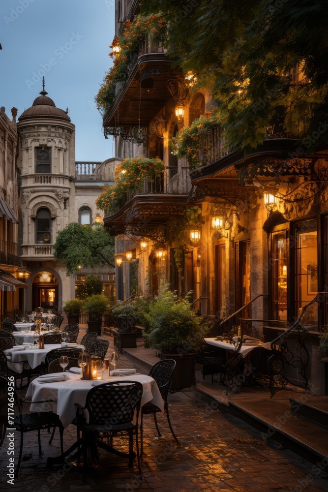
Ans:
<svg viewBox="0 0 328 492"><path fill-rule="evenodd" d="M124 22L124 31L110 45L113 66L106 72L103 83L95 97L101 114L114 102L118 82L125 82L131 64L136 62L140 41L148 35L153 43L164 43L167 38L167 21L162 15L137 15L132 21Z"/></svg>

